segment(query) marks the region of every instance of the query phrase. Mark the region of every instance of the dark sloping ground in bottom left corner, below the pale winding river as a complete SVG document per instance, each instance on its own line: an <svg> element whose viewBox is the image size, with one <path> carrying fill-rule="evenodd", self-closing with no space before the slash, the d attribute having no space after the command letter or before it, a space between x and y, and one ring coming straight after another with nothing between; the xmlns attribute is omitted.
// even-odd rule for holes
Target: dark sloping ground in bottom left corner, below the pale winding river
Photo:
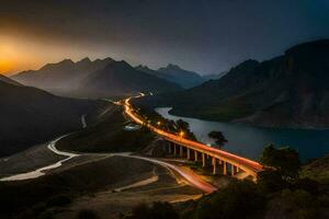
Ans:
<svg viewBox="0 0 329 219"><path fill-rule="evenodd" d="M39 178L0 182L0 218L53 218L54 208L69 205L79 196L111 191L122 182L126 185L149 177L152 170L154 164L148 162L112 157L76 162L70 169Z"/></svg>

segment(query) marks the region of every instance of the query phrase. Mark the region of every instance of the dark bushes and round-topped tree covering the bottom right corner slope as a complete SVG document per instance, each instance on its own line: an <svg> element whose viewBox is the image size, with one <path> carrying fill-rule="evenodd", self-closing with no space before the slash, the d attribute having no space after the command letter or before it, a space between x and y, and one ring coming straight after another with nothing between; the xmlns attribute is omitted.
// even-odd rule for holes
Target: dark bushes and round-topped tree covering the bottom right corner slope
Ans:
<svg viewBox="0 0 329 219"><path fill-rule="evenodd" d="M259 174L258 183L232 181L196 201L175 205L175 212L182 219L328 218L328 183L299 174L302 166L295 150L270 145L260 162L265 170ZM171 212L169 207L167 210ZM135 218L137 214L133 211Z"/></svg>

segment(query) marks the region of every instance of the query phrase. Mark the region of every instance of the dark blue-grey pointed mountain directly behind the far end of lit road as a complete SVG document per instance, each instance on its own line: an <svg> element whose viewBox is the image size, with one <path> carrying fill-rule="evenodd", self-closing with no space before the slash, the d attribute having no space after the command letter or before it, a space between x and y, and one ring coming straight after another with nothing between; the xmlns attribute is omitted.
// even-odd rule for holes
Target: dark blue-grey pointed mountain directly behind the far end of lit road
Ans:
<svg viewBox="0 0 329 219"><path fill-rule="evenodd" d="M181 90L172 82L136 70L125 61L113 61L90 74L80 88L89 96L128 95L137 92L163 93Z"/></svg>

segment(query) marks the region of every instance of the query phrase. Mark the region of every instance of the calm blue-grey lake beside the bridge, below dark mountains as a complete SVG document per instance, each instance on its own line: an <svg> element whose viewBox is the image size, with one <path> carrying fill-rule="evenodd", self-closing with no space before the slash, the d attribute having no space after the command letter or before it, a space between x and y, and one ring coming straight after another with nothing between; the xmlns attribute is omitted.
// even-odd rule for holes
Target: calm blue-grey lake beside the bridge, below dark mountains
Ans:
<svg viewBox="0 0 329 219"><path fill-rule="evenodd" d="M155 108L164 118L172 120L181 118L188 122L191 130L203 143L214 143L214 140L207 135L212 130L220 130L228 140L223 150L250 159L259 159L263 147L270 142L279 147L290 146L295 148L303 161L320 158L329 152L329 129L261 128L241 124L174 116L169 114L170 110L171 107Z"/></svg>

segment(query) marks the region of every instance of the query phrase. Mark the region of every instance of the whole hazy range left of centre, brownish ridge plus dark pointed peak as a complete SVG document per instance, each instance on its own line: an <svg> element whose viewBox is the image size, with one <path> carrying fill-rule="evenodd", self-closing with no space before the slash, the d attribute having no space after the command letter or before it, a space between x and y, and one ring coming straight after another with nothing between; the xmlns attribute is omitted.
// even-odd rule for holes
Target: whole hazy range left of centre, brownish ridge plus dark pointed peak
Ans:
<svg viewBox="0 0 329 219"><path fill-rule="evenodd" d="M78 62L66 59L58 64L48 64L39 70L23 71L12 79L56 94L83 97L181 90L178 84L138 71L125 61L115 61L111 58L95 61L86 58Z"/></svg>

